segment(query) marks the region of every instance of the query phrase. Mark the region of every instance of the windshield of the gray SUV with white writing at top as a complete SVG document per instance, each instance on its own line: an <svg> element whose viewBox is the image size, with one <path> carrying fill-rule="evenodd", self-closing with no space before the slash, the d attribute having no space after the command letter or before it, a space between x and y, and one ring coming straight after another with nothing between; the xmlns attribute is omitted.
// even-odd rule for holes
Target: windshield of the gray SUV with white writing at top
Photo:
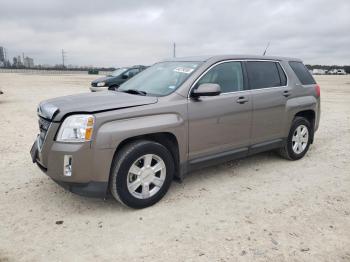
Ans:
<svg viewBox="0 0 350 262"><path fill-rule="evenodd" d="M118 91L137 90L147 95L166 96L174 92L201 62L162 62L122 84Z"/></svg>

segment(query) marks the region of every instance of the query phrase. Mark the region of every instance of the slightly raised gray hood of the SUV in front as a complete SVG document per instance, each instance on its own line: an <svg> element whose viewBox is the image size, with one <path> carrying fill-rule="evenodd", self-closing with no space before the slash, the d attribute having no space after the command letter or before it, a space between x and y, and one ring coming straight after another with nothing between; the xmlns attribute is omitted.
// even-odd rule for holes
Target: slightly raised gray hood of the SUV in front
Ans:
<svg viewBox="0 0 350 262"><path fill-rule="evenodd" d="M97 113L157 103L156 97L139 96L115 91L84 93L43 101L38 114L48 120L61 121L71 113Z"/></svg>

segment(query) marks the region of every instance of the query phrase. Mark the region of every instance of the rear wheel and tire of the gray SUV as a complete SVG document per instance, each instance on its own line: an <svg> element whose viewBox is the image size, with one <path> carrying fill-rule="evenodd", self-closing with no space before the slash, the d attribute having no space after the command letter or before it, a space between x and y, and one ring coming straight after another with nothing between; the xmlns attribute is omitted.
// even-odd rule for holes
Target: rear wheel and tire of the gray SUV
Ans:
<svg viewBox="0 0 350 262"><path fill-rule="evenodd" d="M299 128L299 129L298 129ZM304 129L306 129L304 131ZM306 135L298 138L298 130ZM279 154L288 160L299 160L305 156L312 141L313 131L310 122L304 117L295 117L289 131L287 142Z"/></svg>

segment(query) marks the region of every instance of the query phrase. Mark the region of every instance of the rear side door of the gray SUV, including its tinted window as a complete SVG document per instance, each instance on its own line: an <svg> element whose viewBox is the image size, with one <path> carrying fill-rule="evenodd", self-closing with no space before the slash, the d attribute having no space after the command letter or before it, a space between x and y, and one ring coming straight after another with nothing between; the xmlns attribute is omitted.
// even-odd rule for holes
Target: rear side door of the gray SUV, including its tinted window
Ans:
<svg viewBox="0 0 350 262"><path fill-rule="evenodd" d="M291 95L279 62L247 61L253 100L252 144L283 138L286 102Z"/></svg>

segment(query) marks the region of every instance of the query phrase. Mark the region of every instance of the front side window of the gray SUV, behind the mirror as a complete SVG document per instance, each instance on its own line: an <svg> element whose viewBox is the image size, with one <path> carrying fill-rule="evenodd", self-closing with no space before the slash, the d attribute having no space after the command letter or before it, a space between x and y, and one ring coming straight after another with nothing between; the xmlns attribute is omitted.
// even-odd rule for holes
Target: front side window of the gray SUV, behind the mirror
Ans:
<svg viewBox="0 0 350 262"><path fill-rule="evenodd" d="M243 73L241 62L225 62L210 69L197 82L201 84L213 83L221 87L221 93L243 90Z"/></svg>

